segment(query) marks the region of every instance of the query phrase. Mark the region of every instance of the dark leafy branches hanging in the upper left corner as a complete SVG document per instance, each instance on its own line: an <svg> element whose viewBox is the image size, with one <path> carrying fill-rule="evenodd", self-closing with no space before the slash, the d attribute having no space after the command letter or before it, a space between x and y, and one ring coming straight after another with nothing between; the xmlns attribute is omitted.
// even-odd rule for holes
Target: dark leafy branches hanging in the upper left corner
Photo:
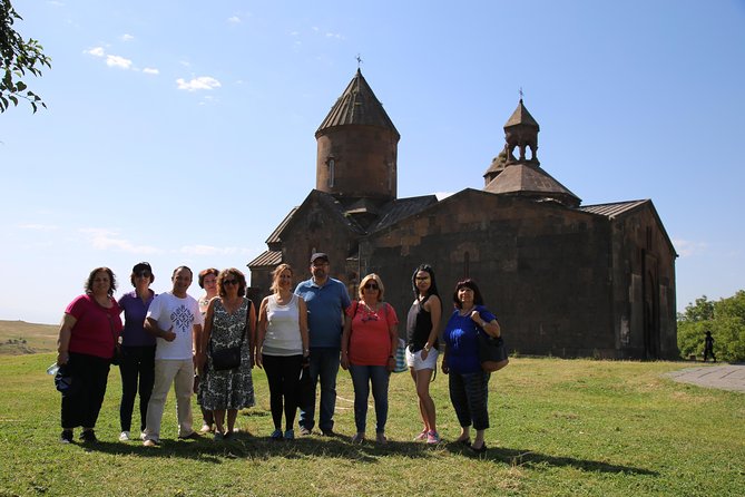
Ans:
<svg viewBox="0 0 745 497"><path fill-rule="evenodd" d="M41 76L41 68L51 68L51 59L43 55L39 41L23 38L16 32L13 23L22 20L10 0L0 0L0 113L4 113L10 104L18 106L19 98L31 104L33 111L38 106L47 107L37 94L28 89L21 80L27 74Z"/></svg>

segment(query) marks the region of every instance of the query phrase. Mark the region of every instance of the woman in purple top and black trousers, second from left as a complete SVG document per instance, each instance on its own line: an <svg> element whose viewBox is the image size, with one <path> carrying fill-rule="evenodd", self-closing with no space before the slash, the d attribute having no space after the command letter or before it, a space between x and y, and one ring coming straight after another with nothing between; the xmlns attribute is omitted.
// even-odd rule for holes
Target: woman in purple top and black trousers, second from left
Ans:
<svg viewBox="0 0 745 497"><path fill-rule="evenodd" d="M153 269L147 262L138 262L129 276L134 292L119 299L119 308L125 314L125 327L121 331L121 403L119 405L119 440L130 439L131 415L135 410L135 398L139 391L139 429L145 431L147 403L153 393L155 382L155 337L145 331L145 316L150 308L155 292L150 284L155 281Z"/></svg>

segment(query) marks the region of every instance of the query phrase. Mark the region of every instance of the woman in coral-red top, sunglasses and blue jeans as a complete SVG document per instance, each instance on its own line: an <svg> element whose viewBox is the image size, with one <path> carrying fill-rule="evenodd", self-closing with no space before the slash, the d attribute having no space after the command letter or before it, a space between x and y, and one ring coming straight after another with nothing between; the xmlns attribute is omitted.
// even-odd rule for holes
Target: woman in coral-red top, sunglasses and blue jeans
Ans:
<svg viewBox="0 0 745 497"><path fill-rule="evenodd" d="M388 383L395 367L393 351L399 342L399 319L393 308L383 302L383 282L378 274L367 274L360 283L360 300L346 309L349 319L342 334L342 368L349 369L354 387L354 423L352 442L365 439L367 398L372 384L375 400L375 439L385 444L388 419Z"/></svg>

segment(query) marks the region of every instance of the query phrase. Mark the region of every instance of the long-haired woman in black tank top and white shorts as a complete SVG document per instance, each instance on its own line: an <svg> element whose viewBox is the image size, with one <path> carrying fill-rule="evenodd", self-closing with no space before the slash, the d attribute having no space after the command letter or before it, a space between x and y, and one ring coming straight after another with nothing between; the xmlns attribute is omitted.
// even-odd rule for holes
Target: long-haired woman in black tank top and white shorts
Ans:
<svg viewBox="0 0 745 497"><path fill-rule="evenodd" d="M414 302L406 319L406 363L416 387L419 412L422 417L422 431L414 440L439 444L434 401L430 396L430 381L437 371L442 303L438 295L434 271L422 264L411 276Z"/></svg>

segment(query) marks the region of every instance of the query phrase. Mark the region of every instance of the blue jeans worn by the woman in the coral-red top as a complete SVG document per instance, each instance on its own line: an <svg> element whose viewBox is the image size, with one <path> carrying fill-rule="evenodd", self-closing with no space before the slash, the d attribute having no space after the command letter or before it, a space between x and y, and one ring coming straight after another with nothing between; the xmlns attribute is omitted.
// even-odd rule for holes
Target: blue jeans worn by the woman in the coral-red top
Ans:
<svg viewBox="0 0 745 497"><path fill-rule="evenodd" d="M367 398L372 383L373 399L375 399L375 432L385 432L388 420L388 382L391 373L384 366L354 366L350 364L350 374L354 386L354 425L357 433L365 432L367 423Z"/></svg>

